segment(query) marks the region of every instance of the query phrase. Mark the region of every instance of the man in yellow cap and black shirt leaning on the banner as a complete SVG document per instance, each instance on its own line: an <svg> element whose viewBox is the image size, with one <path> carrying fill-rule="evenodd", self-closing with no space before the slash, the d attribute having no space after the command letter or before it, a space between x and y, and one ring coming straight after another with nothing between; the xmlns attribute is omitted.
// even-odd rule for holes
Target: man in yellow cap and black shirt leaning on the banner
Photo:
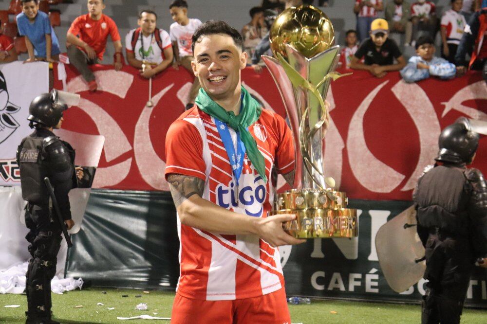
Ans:
<svg viewBox="0 0 487 324"><path fill-rule="evenodd" d="M381 78L388 71L398 71L404 68L406 60L399 47L387 36L389 25L385 19L377 18L371 24L370 38L366 39L350 62L350 68L366 70L372 75ZM364 63L360 59L364 57ZM394 63L394 58L397 63Z"/></svg>

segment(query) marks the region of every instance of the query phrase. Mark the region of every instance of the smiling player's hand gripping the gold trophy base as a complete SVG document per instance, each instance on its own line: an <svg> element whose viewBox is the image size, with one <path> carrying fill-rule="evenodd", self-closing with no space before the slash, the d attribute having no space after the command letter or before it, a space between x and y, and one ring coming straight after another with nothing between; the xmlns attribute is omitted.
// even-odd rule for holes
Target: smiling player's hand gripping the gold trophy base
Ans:
<svg viewBox="0 0 487 324"><path fill-rule="evenodd" d="M273 247L304 243L306 240L294 238L282 229L282 223L293 219L296 219L296 215L282 214L260 218L257 227L259 237Z"/></svg>

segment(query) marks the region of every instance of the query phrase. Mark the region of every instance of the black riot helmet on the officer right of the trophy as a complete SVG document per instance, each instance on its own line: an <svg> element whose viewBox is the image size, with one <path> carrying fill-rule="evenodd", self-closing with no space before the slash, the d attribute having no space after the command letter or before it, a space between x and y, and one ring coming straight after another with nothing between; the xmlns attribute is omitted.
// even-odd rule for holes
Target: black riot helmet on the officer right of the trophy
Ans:
<svg viewBox="0 0 487 324"><path fill-rule="evenodd" d="M479 146L479 134L472 130L467 118L460 117L441 131L438 146L436 161L470 163Z"/></svg>

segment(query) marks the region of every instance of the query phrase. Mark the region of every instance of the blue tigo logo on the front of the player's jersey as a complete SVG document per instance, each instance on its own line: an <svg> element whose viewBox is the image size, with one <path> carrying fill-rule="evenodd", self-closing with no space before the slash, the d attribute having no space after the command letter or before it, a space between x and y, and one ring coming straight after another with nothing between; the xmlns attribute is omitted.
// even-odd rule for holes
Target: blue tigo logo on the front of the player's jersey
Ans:
<svg viewBox="0 0 487 324"><path fill-rule="evenodd" d="M265 186L258 184L262 177L257 177L254 180L254 186L244 186L239 188L238 201L235 194L235 183L231 180L228 186L219 184L216 187L217 204L223 208L239 208L244 205L245 213L248 216L260 217L262 216L262 204L265 200Z"/></svg>

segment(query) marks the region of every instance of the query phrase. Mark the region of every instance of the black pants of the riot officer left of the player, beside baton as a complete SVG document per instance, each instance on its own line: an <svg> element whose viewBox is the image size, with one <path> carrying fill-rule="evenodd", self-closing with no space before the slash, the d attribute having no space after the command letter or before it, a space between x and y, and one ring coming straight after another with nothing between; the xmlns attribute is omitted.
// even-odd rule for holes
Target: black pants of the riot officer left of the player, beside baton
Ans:
<svg viewBox="0 0 487 324"><path fill-rule="evenodd" d="M32 204L27 204L25 225L30 230L25 238L32 256L26 274L27 321L49 320L51 279L56 274L62 232L57 221L51 222L48 208Z"/></svg>

